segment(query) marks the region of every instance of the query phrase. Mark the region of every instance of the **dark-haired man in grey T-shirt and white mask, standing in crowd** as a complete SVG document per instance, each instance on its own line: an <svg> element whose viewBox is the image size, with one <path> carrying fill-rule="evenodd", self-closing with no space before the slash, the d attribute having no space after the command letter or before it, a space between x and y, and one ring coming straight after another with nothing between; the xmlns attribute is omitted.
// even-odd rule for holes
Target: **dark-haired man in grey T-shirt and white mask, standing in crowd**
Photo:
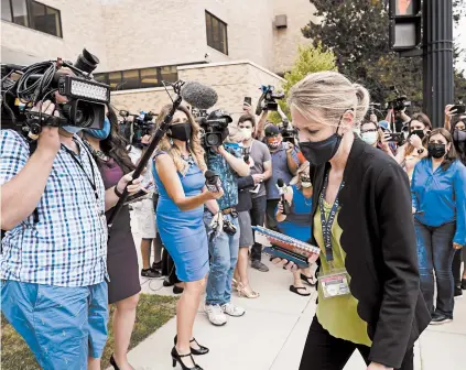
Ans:
<svg viewBox="0 0 466 370"><path fill-rule="evenodd" d="M250 191L252 197L251 221L252 226L263 226L267 209L267 191L264 181L272 176L272 157L267 145L252 138L256 129L256 119L252 115L243 115L238 120L238 128L245 134L242 144L247 150L250 161L251 175L256 187ZM251 248L251 266L261 272L268 272L269 268L261 262L262 246L254 241Z"/></svg>

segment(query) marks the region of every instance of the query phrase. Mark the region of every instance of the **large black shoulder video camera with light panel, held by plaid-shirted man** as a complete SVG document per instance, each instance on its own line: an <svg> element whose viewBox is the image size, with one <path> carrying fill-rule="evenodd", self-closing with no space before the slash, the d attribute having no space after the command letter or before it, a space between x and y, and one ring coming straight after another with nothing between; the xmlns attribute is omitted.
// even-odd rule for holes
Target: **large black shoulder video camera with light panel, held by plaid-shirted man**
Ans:
<svg viewBox="0 0 466 370"><path fill-rule="evenodd" d="M30 66L1 65L2 124L30 139L36 139L43 126L101 129L110 87L91 79L98 64L97 56L84 48L74 64L57 58ZM31 111L37 102L55 102L55 91L68 100L56 105L59 117Z"/></svg>

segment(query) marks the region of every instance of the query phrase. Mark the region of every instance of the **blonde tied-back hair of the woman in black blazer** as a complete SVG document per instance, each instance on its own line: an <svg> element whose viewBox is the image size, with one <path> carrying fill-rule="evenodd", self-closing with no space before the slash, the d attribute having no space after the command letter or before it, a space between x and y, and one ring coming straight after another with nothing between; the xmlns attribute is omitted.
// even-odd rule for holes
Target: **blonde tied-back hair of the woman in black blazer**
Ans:
<svg viewBox="0 0 466 370"><path fill-rule="evenodd" d="M322 123L328 126L337 126L345 111L353 109L355 127L366 116L369 101L365 87L334 70L308 74L290 89L288 99L290 108L304 117L315 119L313 111L322 113L325 119Z"/></svg>

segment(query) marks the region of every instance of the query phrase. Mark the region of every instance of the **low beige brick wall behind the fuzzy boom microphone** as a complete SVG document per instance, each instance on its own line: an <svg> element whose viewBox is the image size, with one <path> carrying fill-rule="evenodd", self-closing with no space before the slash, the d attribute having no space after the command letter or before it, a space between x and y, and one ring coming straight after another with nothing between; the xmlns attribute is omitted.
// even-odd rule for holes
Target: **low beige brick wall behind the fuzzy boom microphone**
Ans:
<svg viewBox="0 0 466 370"><path fill-rule="evenodd" d="M178 75L181 79L212 86L218 94L218 102L214 109L225 109L234 119L241 115L245 96L250 96L256 106L261 95L259 90L261 84L279 88L282 83L279 76L249 62L181 67ZM133 113L140 110L159 112L170 99L163 89L156 88L113 92L111 102L118 109Z"/></svg>

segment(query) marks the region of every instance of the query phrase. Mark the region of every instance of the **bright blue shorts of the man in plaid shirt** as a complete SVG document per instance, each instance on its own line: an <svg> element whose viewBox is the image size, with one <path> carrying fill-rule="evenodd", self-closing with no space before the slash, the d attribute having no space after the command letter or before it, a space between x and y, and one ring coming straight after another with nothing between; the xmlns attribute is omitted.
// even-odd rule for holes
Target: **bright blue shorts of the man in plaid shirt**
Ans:
<svg viewBox="0 0 466 370"><path fill-rule="evenodd" d="M51 286L1 283L1 309L43 369L87 369L107 341L107 283Z"/></svg>

